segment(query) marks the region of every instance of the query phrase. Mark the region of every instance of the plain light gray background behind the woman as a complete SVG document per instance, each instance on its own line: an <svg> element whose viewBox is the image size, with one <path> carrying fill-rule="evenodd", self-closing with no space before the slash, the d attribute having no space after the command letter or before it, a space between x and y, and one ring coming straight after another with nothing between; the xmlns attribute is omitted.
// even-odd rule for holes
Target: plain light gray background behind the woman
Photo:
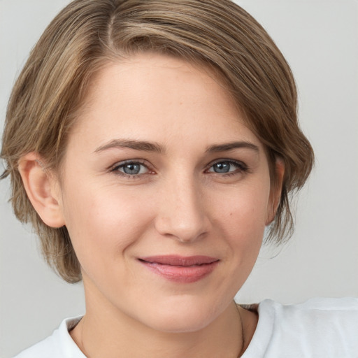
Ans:
<svg viewBox="0 0 358 358"><path fill-rule="evenodd" d="M0 121L29 50L66 0L0 0ZM300 119L317 164L299 197L296 231L283 248L264 248L237 300L282 303L358 296L358 2L241 0L291 64ZM2 130L2 129L1 129ZM45 266L30 227L13 216L0 182L0 357L84 313L81 285Z"/></svg>

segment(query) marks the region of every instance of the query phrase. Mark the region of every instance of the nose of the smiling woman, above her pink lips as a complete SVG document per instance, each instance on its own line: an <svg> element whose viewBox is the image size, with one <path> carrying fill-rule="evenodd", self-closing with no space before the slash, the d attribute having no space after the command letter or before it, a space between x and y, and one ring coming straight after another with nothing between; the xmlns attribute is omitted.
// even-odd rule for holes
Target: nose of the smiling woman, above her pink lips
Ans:
<svg viewBox="0 0 358 358"><path fill-rule="evenodd" d="M168 180L159 194L155 228L182 243L199 240L208 234L210 220L204 208L203 192L193 179Z"/></svg>

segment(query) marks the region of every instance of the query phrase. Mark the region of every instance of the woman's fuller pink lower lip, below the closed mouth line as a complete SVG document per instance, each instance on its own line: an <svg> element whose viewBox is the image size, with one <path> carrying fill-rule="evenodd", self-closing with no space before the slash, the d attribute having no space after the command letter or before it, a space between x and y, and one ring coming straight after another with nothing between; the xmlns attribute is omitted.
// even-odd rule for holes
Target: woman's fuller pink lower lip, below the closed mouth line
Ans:
<svg viewBox="0 0 358 358"><path fill-rule="evenodd" d="M156 262L140 262L153 273L156 273L167 280L182 283L197 282L205 278L213 272L214 268L219 263L218 261L215 261L210 264L193 266L171 266L167 264L158 264Z"/></svg>

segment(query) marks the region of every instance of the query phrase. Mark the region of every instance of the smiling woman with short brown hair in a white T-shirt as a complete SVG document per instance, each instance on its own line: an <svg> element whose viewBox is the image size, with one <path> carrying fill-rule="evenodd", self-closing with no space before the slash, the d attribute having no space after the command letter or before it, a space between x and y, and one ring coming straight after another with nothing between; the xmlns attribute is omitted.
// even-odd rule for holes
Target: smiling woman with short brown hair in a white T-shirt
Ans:
<svg viewBox="0 0 358 358"><path fill-rule="evenodd" d="M15 84L2 156L17 217L86 296L20 357L355 352L356 300L233 301L313 164L289 66L234 3L73 1Z"/></svg>

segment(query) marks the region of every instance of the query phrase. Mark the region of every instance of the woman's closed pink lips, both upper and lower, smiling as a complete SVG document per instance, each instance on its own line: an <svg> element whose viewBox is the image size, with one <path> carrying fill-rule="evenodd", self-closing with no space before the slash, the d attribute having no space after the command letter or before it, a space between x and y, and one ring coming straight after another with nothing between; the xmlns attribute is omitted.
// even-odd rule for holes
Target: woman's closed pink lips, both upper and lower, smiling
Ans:
<svg viewBox="0 0 358 358"><path fill-rule="evenodd" d="M153 273L174 282L196 282L216 267L219 259L208 256L178 255L141 257L139 262Z"/></svg>

